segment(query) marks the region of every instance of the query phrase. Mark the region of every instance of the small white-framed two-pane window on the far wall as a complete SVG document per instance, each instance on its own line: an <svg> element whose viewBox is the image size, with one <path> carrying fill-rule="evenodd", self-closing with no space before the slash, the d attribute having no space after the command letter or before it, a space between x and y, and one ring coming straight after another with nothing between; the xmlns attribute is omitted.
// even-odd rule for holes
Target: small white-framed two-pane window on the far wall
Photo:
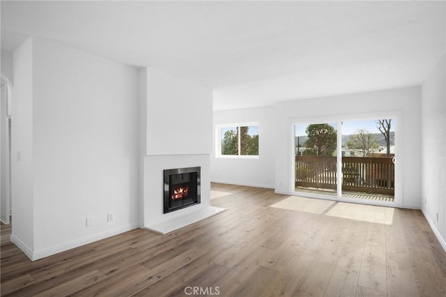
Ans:
<svg viewBox="0 0 446 297"><path fill-rule="evenodd" d="M218 156L259 156L259 124L217 126Z"/></svg>

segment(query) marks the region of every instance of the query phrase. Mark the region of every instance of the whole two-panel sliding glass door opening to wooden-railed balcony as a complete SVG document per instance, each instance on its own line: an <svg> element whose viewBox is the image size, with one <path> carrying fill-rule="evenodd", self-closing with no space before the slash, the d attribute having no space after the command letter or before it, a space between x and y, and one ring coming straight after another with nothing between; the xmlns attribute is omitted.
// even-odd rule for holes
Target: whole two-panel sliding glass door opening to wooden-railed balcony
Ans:
<svg viewBox="0 0 446 297"><path fill-rule="evenodd" d="M392 118L296 123L295 191L394 201L394 124Z"/></svg>

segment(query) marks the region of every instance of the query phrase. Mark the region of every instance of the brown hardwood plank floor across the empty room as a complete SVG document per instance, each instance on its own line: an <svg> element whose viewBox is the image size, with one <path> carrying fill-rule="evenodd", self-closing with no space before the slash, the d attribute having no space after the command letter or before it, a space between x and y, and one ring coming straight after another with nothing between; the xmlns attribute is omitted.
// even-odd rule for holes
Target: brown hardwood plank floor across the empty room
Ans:
<svg viewBox="0 0 446 297"><path fill-rule="evenodd" d="M164 236L135 229L38 261L1 225L1 296L446 296L446 253L420 211L392 224L270 207L213 184L227 211Z"/></svg>

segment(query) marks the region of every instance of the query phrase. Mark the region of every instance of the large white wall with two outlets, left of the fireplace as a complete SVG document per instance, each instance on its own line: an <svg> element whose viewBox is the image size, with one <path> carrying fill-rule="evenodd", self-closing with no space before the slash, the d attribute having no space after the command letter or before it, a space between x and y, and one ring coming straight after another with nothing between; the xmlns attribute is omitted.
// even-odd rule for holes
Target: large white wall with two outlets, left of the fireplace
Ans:
<svg viewBox="0 0 446 297"><path fill-rule="evenodd" d="M18 150L17 139L31 136L16 165L33 156L32 186L29 198L14 192L13 236L22 240L14 227L33 218L26 225L38 259L139 226L139 72L47 40L28 44L32 102L15 105L13 116L14 127L29 122L24 115L31 119L31 135L16 129L13 139ZM21 188L17 176L16 182ZM24 208L31 216L22 216L15 206L29 199Z"/></svg>

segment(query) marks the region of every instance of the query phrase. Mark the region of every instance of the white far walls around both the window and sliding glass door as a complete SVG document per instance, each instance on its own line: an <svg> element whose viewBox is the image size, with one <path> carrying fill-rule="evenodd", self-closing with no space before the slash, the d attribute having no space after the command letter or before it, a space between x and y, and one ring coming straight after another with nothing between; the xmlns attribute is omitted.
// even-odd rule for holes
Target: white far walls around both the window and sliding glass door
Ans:
<svg viewBox="0 0 446 297"><path fill-rule="evenodd" d="M398 182L401 201L397 206L421 207L421 88L346 94L278 102L274 107L214 112L218 124L259 121L259 160L215 158L211 156L211 179L215 182L275 188L293 195L292 123L312 119L355 119L370 114L398 114L400 122ZM215 139L215 135L214 135ZM214 145L215 146L215 145Z"/></svg>

